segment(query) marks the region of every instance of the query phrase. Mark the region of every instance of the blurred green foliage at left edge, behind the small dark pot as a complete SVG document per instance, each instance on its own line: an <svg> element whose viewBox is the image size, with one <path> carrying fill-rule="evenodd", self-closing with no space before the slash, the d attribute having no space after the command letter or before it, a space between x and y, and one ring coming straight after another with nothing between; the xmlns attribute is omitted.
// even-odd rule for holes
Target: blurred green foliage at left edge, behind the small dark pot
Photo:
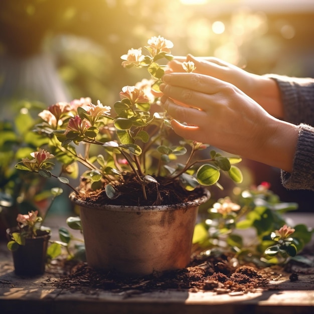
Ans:
<svg viewBox="0 0 314 314"><path fill-rule="evenodd" d="M0 121L0 221L7 228L17 225L18 213L39 210L44 217L53 198L46 179L34 174L25 176L15 169L18 161L47 142L32 131L36 115L45 105L28 101L11 105L17 110L14 118Z"/></svg>

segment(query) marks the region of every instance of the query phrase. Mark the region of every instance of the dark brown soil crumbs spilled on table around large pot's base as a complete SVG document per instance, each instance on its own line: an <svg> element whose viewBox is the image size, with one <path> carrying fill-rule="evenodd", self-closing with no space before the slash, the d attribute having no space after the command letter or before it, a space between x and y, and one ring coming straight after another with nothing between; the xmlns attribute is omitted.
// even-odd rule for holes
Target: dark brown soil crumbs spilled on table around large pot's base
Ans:
<svg viewBox="0 0 314 314"><path fill-rule="evenodd" d="M70 267L65 277L55 282L58 288L90 293L90 288L110 292L134 291L136 293L158 290L200 290L217 293L244 294L265 288L269 274L256 266L235 266L231 256L194 257L186 268L163 273L152 273L142 277L121 277L115 272L99 272L86 263ZM88 289L86 289L88 288Z"/></svg>

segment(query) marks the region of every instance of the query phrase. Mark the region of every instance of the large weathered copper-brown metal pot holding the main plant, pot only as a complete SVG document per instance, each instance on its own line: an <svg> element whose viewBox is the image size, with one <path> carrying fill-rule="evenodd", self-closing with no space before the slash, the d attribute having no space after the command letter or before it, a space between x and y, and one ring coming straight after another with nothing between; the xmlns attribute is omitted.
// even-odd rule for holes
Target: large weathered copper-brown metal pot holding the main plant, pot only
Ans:
<svg viewBox="0 0 314 314"><path fill-rule="evenodd" d="M210 197L204 193L192 202L145 207L101 206L71 194L80 206L88 265L136 276L186 267L199 205Z"/></svg>

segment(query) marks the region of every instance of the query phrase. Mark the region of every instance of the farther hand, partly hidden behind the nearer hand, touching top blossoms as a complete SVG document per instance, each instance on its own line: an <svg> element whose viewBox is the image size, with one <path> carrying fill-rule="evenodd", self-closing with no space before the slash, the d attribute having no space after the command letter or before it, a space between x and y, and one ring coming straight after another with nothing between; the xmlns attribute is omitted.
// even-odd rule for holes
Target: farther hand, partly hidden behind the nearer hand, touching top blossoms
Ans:
<svg viewBox="0 0 314 314"><path fill-rule="evenodd" d="M168 73L184 72L182 63L192 61L196 66L194 73L218 78L238 87L259 103L267 112L276 117L283 117L283 106L279 90L274 80L266 76L249 73L235 65L214 57L192 55L176 57L170 61Z"/></svg>

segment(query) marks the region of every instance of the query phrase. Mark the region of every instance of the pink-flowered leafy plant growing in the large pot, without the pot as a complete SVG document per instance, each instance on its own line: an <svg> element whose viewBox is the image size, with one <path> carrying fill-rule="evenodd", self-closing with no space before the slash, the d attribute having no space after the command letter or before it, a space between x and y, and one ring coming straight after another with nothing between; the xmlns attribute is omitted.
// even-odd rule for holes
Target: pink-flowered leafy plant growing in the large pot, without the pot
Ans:
<svg viewBox="0 0 314 314"><path fill-rule="evenodd" d="M160 205L181 190L188 193L200 185L220 186L221 172L241 182L242 174L233 165L240 158L226 158L215 150L205 154L208 145L178 138L171 117L159 105L159 85L167 70L167 64L160 61L173 59L172 47L171 41L152 37L144 47L146 55L139 48L121 57L123 67L146 68L150 78L124 86L113 110L99 100L93 104L87 97L59 102L42 111L43 122L35 131L49 139L48 148L41 147L32 153L33 159L22 159L16 168L56 177L70 186L61 174L78 175L80 163L87 171L81 176L79 189L72 188L75 193L81 197L94 191L104 196L105 202L120 204L121 196L130 192L128 205L132 197L134 205ZM184 68L191 72L194 64L186 63ZM61 162L60 175L51 172L53 158ZM88 185L85 192L83 183ZM176 193L169 192L171 185Z"/></svg>

